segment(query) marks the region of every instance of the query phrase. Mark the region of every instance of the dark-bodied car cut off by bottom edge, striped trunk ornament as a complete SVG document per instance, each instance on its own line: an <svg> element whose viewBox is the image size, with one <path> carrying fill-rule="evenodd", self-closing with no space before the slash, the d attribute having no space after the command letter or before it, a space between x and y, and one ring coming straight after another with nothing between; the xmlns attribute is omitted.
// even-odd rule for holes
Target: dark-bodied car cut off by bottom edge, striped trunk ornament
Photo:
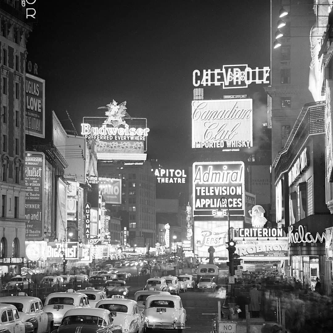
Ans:
<svg viewBox="0 0 333 333"><path fill-rule="evenodd" d="M122 329L113 324L108 310L75 308L68 310L58 329L52 331L52 333L69 332L122 333Z"/></svg>

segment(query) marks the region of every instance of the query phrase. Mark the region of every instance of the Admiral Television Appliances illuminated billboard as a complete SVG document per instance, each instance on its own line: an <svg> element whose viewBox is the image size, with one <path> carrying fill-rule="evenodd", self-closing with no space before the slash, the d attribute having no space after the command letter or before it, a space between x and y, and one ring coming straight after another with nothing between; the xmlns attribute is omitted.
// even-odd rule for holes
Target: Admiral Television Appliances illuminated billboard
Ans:
<svg viewBox="0 0 333 333"><path fill-rule="evenodd" d="M244 216L243 162L194 162L192 169L193 216L216 216L219 210Z"/></svg>

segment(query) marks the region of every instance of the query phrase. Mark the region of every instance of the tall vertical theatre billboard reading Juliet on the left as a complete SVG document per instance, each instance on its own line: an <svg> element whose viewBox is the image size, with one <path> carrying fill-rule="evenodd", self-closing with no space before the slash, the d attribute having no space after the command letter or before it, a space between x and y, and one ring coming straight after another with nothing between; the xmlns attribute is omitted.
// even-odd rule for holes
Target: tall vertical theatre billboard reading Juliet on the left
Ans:
<svg viewBox="0 0 333 333"><path fill-rule="evenodd" d="M44 182L45 155L37 152L25 154L25 219L26 240L40 240L44 237Z"/></svg>

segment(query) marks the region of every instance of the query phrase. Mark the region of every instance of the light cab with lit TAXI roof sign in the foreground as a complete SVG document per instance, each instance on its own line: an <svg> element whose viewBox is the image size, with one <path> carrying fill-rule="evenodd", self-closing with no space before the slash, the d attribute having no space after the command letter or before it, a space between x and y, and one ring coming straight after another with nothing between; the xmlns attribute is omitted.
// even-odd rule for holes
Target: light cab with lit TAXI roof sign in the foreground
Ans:
<svg viewBox="0 0 333 333"><path fill-rule="evenodd" d="M133 299L114 295L112 298L98 301L96 307L109 310L114 325L121 326L123 333L143 333L145 319L139 311L138 303Z"/></svg>

